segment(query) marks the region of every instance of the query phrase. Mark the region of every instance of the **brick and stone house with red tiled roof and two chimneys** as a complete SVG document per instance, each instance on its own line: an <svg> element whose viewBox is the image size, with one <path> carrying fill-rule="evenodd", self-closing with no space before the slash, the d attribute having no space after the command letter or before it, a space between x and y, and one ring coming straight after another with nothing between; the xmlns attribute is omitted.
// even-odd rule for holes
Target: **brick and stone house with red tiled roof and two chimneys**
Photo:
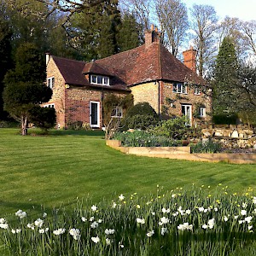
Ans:
<svg viewBox="0 0 256 256"><path fill-rule="evenodd" d="M184 64L178 61L160 44L153 26L142 46L101 60L86 63L47 54L47 85L53 96L44 107L55 108L59 127L82 121L102 128L104 96L132 93L134 103L149 102L160 115L207 121L212 104L201 90L205 81L195 73L195 55L190 48L183 52Z"/></svg>

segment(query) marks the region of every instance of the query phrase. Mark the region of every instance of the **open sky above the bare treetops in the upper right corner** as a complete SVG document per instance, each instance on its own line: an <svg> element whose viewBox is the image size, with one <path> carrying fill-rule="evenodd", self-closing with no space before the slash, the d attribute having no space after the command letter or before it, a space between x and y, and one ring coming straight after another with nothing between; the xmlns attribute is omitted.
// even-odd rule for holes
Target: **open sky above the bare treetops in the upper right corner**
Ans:
<svg viewBox="0 0 256 256"><path fill-rule="evenodd" d="M256 20L256 0L183 0L187 8L193 4L212 5L222 20L225 16L239 18L243 21Z"/></svg>

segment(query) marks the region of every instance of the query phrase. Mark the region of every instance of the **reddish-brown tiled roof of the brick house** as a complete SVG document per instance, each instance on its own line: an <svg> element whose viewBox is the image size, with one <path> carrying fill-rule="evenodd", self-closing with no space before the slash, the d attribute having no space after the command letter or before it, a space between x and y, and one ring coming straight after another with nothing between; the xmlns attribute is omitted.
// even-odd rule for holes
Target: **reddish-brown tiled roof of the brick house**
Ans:
<svg viewBox="0 0 256 256"><path fill-rule="evenodd" d="M53 56L67 84L128 90L129 86L155 80L205 84L196 73L185 67L160 43L145 44L102 60L85 63ZM111 85L90 84L85 73L112 76Z"/></svg>

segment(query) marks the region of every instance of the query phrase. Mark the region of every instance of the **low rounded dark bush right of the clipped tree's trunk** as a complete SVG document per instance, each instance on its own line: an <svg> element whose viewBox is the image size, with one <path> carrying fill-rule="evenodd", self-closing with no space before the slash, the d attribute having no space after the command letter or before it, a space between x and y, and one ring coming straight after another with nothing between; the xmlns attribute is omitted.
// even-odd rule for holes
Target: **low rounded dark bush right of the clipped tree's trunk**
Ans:
<svg viewBox="0 0 256 256"><path fill-rule="evenodd" d="M29 121L43 131L49 131L56 124L55 108L41 108L39 105L33 106L29 110Z"/></svg>

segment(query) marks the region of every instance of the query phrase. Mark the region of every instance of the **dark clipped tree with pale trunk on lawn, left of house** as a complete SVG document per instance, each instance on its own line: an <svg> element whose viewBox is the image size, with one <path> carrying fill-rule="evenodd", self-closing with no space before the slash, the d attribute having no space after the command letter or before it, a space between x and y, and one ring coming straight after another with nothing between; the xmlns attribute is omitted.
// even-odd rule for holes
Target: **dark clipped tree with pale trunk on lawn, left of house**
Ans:
<svg viewBox="0 0 256 256"><path fill-rule="evenodd" d="M20 121L22 135L26 135L26 126L30 111L35 105L49 102L52 90L44 84L44 60L34 44L21 44L15 55L15 69L4 78L4 109Z"/></svg>

